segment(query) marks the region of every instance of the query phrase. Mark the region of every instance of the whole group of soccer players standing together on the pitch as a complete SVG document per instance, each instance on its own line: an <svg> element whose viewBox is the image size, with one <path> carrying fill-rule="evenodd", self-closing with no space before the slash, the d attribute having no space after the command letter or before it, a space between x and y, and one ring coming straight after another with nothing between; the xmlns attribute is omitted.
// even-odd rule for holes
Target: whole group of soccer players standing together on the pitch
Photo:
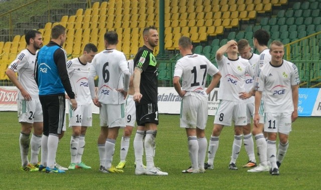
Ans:
<svg viewBox="0 0 321 190"><path fill-rule="evenodd" d="M55 158L59 139L66 130L65 99L68 99L69 127L72 128L68 169L91 168L82 162L82 154L86 129L92 126L93 102L100 110L101 130L97 146L101 172L123 172L136 122L133 140L135 174L168 175L153 161L158 125L157 63L153 50L158 45L158 33L155 27L150 26L143 30L142 35L144 46L133 60L127 61L124 54L116 50L118 36L110 31L104 36L104 51L97 53L95 45L87 44L83 55L67 61L66 52L62 49L66 40L64 27L53 27L52 40L44 47L41 33L28 31L27 49L17 56L6 72L20 91L17 101L22 126L22 170L64 173L67 169L55 165ZM176 63L173 84L182 97L180 126L186 129L192 163L183 173L204 173L205 169L214 168L220 133L224 126L231 126L233 120L235 134L228 168L238 169L236 160L243 139L249 156L248 163L243 167L254 167L248 172L269 171L272 175L279 175L279 167L288 148L291 122L297 118L300 81L296 66L282 59L283 44L274 41L268 48L268 41L266 31L260 29L255 32L253 44L260 55L251 53L247 40L227 42L216 52L216 68L205 56L192 53L190 38L180 38L179 49L183 57ZM205 88L207 75L212 77L212 81ZM96 76L97 93L94 84ZM207 95L219 82L220 105L208 143L205 135ZM254 123L252 130L251 117ZM124 132L120 162L114 167L111 163L119 128L123 128ZM259 164L255 159L252 134ZM38 161L40 147L41 162ZM142 162L144 150L146 166Z"/></svg>

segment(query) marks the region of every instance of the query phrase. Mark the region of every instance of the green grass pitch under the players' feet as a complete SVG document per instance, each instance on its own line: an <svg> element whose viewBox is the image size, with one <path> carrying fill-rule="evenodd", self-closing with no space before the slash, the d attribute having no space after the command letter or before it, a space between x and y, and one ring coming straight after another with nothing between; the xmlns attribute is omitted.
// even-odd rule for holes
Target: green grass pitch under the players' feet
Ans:
<svg viewBox="0 0 321 190"><path fill-rule="evenodd" d="M20 170L19 132L17 112L0 112L0 189L320 189L320 118L298 118L292 125L289 149L280 167L279 176L268 172L249 173L242 168L248 161L244 146L237 160L238 170L229 170L232 152L233 127L225 127L220 136L220 146L213 170L203 174L182 173L191 163L187 137L179 127L179 115L159 115L156 137L155 165L169 173L168 176L134 174L133 137L127 155L124 173L101 173L97 137L100 131L99 116L93 114L93 127L88 128L83 162L92 169L68 170L65 174L25 172ZM209 116L206 136L209 140L213 129L213 116ZM134 129L136 131L136 129ZM113 165L119 162L122 130L116 142ZM59 143L56 160L68 167L71 129ZM254 141L255 143L255 141ZM278 143L278 142L277 142ZM256 147L254 148L256 152ZM30 155L30 154L29 154ZM40 158L39 158L40 159ZM256 156L258 161L258 157ZM206 158L207 160L207 158Z"/></svg>

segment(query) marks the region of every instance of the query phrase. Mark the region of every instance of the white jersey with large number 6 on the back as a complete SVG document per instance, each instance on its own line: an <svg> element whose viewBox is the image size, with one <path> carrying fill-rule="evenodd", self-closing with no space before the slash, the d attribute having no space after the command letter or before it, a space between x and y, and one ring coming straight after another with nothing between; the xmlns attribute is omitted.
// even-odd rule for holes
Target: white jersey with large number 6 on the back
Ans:
<svg viewBox="0 0 321 190"><path fill-rule="evenodd" d="M89 75L98 75L98 101L104 104L122 104L124 95L116 91L124 87L123 71L128 70L125 55L115 49L104 50L92 60Z"/></svg>

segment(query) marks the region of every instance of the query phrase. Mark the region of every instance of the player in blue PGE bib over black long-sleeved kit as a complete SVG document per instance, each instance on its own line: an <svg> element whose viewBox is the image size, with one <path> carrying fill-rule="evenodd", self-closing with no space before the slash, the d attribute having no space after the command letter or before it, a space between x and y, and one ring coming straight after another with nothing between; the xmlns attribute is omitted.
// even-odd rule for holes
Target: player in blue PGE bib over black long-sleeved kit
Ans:
<svg viewBox="0 0 321 190"><path fill-rule="evenodd" d="M51 41L37 54L35 80L44 117L44 134L41 141L41 165L39 170L48 173L65 173L55 166L59 134L65 117L65 91L70 97L71 109L77 109L68 71L67 55L62 45L66 41L66 29L56 25L51 29Z"/></svg>

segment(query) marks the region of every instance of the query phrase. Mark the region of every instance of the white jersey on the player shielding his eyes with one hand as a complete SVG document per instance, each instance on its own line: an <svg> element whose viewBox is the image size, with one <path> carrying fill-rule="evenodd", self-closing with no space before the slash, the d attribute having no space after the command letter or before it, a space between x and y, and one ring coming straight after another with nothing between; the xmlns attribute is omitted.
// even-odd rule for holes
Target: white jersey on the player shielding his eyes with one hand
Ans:
<svg viewBox="0 0 321 190"><path fill-rule="evenodd" d="M245 76L254 76L253 68L246 59L238 58L230 60L223 56L222 60L216 60L222 78L218 99L229 101L246 101L239 98L239 93L245 92Z"/></svg>

